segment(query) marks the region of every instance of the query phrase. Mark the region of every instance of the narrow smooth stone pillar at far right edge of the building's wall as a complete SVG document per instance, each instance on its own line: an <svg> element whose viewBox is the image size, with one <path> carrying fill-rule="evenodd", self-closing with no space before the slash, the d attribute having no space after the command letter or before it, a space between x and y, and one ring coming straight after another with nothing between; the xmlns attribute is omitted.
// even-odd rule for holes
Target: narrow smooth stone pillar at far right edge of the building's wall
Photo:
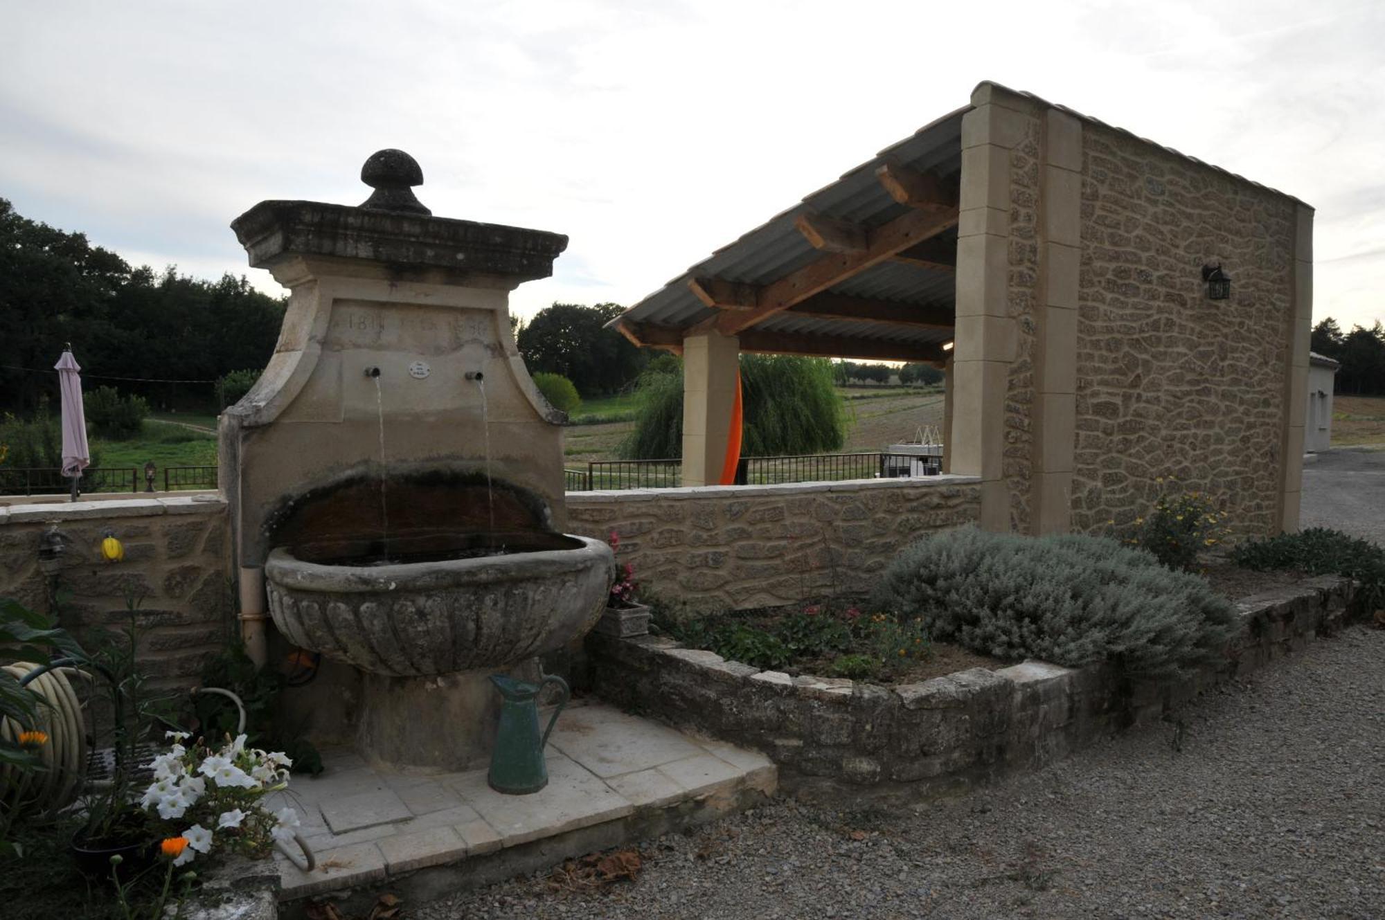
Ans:
<svg viewBox="0 0 1385 920"><path fill-rule="evenodd" d="M1280 443L1280 527L1299 528L1303 488L1303 416L1307 409L1309 342L1313 334L1313 209L1298 205L1294 234L1294 315L1289 317L1284 380L1284 438Z"/></svg>

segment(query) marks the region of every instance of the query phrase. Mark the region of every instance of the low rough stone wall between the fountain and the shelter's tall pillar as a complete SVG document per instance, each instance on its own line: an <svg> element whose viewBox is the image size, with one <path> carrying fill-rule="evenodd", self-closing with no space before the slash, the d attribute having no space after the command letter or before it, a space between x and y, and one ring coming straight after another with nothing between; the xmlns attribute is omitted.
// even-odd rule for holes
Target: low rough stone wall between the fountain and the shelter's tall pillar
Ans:
<svg viewBox="0 0 1385 920"><path fill-rule="evenodd" d="M615 531L641 587L694 608L863 592L910 540L979 514L964 477L568 495L572 532Z"/></svg>

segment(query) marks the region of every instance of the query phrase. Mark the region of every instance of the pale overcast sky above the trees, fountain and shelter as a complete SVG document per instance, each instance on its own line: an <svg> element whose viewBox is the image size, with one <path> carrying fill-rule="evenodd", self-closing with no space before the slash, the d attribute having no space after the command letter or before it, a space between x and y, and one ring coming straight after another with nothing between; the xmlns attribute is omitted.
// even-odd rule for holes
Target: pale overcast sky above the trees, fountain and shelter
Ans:
<svg viewBox="0 0 1385 920"><path fill-rule="evenodd" d="M134 263L277 291L230 220L399 147L571 237L517 313L629 305L990 79L1316 206L1314 320L1385 317L1381 3L0 1L0 197Z"/></svg>

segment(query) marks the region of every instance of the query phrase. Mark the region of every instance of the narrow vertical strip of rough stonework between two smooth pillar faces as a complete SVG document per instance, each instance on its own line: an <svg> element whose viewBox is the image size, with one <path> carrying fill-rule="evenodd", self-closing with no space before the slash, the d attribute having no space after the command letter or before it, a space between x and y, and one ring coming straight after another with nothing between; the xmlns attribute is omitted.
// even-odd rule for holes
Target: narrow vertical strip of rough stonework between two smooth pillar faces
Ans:
<svg viewBox="0 0 1385 920"><path fill-rule="evenodd" d="M1024 137L1010 151L1010 252L1006 284L1015 320L1015 356L1006 378L1006 446L1001 474L1010 490L1010 528L1028 533L1035 472L1035 348L1039 309L1042 114L1024 119Z"/></svg>

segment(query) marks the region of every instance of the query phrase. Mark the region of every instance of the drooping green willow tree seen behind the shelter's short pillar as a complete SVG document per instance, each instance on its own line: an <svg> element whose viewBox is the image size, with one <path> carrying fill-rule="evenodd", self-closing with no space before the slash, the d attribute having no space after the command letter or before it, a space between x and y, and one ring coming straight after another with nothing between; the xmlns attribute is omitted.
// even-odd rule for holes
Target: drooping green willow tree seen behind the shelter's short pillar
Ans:
<svg viewBox="0 0 1385 920"><path fill-rule="evenodd" d="M827 359L741 355L741 405L742 456L830 453L846 443L850 417ZM640 378L634 431L620 456L683 456L681 366Z"/></svg>

